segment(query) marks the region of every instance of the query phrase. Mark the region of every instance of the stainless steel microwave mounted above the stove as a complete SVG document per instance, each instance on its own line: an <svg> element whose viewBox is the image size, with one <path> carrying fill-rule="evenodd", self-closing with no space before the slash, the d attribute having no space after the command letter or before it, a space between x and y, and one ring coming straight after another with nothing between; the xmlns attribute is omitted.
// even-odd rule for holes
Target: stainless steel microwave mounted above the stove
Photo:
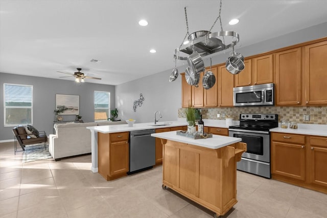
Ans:
<svg viewBox="0 0 327 218"><path fill-rule="evenodd" d="M274 105L274 83L233 88L233 105Z"/></svg>

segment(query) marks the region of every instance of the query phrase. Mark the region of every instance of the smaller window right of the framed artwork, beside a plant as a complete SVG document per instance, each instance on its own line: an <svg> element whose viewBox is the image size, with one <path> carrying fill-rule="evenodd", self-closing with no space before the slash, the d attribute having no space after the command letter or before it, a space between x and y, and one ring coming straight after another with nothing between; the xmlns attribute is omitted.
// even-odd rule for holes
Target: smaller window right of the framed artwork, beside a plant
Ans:
<svg viewBox="0 0 327 218"><path fill-rule="evenodd" d="M94 120L110 118L110 92L94 91Z"/></svg>

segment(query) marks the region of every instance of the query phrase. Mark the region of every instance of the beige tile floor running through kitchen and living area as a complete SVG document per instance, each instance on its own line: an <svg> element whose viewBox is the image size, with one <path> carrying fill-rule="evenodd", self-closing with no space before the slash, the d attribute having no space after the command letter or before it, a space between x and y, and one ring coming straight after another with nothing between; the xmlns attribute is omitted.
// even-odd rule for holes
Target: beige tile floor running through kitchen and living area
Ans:
<svg viewBox="0 0 327 218"><path fill-rule="evenodd" d="M107 182L91 157L21 163L0 143L0 217L213 217L161 188L162 167ZM238 203L221 217L326 217L327 195L237 172Z"/></svg>

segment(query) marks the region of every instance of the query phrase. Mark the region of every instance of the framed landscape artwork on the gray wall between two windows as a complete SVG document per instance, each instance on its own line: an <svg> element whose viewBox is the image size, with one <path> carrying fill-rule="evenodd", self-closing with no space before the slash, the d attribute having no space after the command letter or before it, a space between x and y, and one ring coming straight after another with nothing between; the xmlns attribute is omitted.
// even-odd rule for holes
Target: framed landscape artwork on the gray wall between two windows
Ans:
<svg viewBox="0 0 327 218"><path fill-rule="evenodd" d="M80 96L56 94L56 110L60 115L79 115Z"/></svg>

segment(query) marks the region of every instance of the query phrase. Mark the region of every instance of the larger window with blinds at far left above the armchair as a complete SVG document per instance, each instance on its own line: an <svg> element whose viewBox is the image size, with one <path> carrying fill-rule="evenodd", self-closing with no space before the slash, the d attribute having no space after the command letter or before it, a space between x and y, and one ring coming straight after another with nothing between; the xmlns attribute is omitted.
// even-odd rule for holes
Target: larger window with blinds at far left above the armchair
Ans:
<svg viewBox="0 0 327 218"><path fill-rule="evenodd" d="M4 125L33 123L33 85L4 83Z"/></svg>

